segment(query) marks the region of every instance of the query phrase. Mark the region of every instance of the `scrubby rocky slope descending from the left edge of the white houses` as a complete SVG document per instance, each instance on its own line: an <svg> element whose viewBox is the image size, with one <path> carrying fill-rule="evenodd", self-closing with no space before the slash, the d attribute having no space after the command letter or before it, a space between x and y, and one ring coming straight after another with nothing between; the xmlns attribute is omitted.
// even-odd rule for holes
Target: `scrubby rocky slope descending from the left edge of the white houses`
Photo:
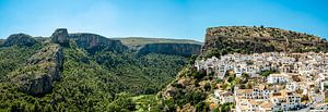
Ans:
<svg viewBox="0 0 328 112"><path fill-rule="evenodd" d="M246 74L243 77L247 76ZM172 82L163 91L156 96L154 102L143 102L142 105L149 105L150 111L183 111L183 112L229 112L234 105L232 103L210 107L210 96L213 90L221 85L226 90L233 90L235 85L248 84L247 79L237 78L234 74L226 74L223 80L215 79L213 74L207 74L204 71L197 72L192 66L187 65L179 72L177 78Z"/></svg>

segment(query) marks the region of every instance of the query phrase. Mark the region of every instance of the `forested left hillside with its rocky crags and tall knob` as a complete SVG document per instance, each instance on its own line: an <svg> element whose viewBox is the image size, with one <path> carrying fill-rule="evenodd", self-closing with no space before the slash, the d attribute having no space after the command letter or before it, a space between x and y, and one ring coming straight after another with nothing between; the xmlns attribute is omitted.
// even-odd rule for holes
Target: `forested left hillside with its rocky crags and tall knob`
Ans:
<svg viewBox="0 0 328 112"><path fill-rule="evenodd" d="M11 35L0 57L0 111L133 111L128 96L156 94L188 63L65 28L49 37Z"/></svg>

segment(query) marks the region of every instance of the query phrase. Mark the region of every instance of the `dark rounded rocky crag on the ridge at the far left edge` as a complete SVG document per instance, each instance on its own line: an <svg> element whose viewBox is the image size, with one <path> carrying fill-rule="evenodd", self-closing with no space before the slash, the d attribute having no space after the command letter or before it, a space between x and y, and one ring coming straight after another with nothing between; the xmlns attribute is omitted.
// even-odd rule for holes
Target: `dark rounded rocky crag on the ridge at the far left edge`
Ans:
<svg viewBox="0 0 328 112"><path fill-rule="evenodd" d="M19 47L32 47L35 43L37 43L37 41L30 35L26 34L13 34L10 35L5 41L2 43L3 47L10 47L13 45L16 45Z"/></svg>

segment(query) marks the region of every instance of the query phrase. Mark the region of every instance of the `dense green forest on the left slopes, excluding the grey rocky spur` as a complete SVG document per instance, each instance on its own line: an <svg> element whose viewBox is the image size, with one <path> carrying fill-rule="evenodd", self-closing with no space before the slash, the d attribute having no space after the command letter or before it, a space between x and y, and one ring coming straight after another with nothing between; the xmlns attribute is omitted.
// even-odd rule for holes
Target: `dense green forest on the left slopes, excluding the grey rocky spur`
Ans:
<svg viewBox="0 0 328 112"><path fill-rule="evenodd" d="M8 75L24 67L42 46L0 48L0 111L134 111L134 96L156 94L187 63L187 58L157 53L136 57L132 51L99 50L91 54L71 41L63 48L60 80L50 92L31 96Z"/></svg>

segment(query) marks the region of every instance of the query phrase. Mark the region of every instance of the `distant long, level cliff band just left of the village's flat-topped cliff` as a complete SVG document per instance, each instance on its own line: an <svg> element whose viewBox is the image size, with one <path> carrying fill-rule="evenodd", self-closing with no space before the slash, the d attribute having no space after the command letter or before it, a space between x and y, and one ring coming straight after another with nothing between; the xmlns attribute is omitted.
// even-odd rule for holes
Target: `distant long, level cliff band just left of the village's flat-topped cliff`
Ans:
<svg viewBox="0 0 328 112"><path fill-rule="evenodd" d="M191 54L199 54L200 49L201 45L196 43L148 43L139 50L138 54L162 53L190 57Z"/></svg>

